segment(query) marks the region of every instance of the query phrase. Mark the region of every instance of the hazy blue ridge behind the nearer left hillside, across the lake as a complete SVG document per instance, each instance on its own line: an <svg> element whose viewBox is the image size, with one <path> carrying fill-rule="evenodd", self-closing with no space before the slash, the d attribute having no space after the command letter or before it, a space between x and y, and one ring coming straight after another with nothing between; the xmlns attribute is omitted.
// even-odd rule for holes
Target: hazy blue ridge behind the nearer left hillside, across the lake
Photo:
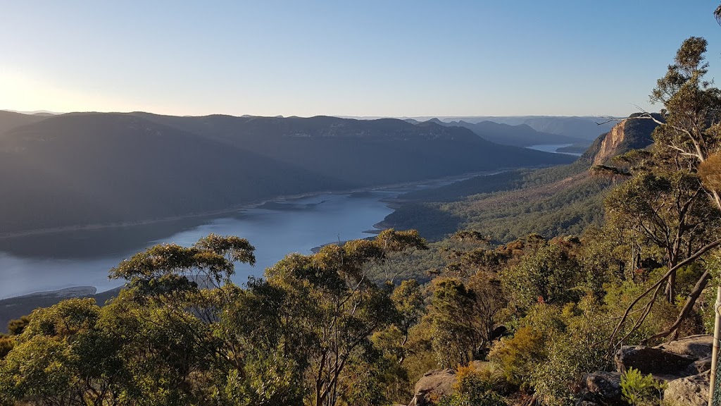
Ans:
<svg viewBox="0 0 721 406"><path fill-rule="evenodd" d="M500 167L569 163L574 159L493 144L464 128L410 124L394 118L141 114L361 186L420 181Z"/></svg>

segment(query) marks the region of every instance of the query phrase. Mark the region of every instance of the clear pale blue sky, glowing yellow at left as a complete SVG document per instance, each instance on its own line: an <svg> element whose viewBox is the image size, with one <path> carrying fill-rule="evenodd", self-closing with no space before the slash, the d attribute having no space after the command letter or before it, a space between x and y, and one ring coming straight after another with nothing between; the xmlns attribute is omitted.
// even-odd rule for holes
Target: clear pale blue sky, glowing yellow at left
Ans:
<svg viewBox="0 0 721 406"><path fill-rule="evenodd" d="M0 108L627 115L719 0L0 0Z"/></svg>

